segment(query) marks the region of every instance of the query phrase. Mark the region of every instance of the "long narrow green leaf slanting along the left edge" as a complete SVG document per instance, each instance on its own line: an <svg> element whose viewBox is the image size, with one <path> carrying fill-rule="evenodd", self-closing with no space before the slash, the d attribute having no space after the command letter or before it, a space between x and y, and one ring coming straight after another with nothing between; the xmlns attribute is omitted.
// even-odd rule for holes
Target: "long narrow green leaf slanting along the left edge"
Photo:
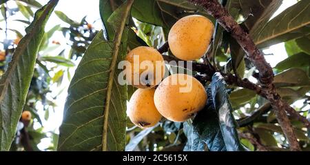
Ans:
<svg viewBox="0 0 310 165"><path fill-rule="evenodd" d="M58 0L52 0L38 10L34 21L26 28L26 35L17 46L8 69L0 80L0 139L1 150L8 151L17 129L17 122L25 104L34 72L39 44L44 35L45 23Z"/></svg>

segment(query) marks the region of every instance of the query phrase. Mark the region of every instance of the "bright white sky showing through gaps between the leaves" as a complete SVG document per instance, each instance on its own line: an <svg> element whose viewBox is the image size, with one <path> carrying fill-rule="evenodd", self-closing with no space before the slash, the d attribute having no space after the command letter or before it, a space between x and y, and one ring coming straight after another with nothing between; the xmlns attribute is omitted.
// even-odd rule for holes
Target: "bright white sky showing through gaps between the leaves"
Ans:
<svg viewBox="0 0 310 165"><path fill-rule="evenodd" d="M45 4L48 2L48 0L39 0L41 4ZM296 0L284 0L282 6L280 6L279 10L276 12L274 16L288 8L289 6L292 6L295 4ZM14 2L12 2L14 3ZM60 10L68 15L71 19L74 19L75 21L81 21L81 19L87 15L87 21L89 23L93 23L94 27L96 29L101 29L101 21L100 21L100 15L99 15L99 0L63 0L59 1L59 4L56 6L55 10ZM22 16L17 15L18 19L20 19ZM15 18L15 19L17 19ZM14 18L12 18L14 19ZM12 22L12 21L11 21ZM61 24L62 26L68 26L67 23L63 23L58 17L56 17L55 14L52 14L50 17L50 20L47 23L47 26L45 30L50 30L50 28L56 26L57 24ZM3 28L3 24L0 25L1 28ZM20 31L23 31L25 27L20 26L20 24L15 25L13 23L9 24L9 28L19 29ZM14 34L9 35L11 39L14 39ZM0 36L2 38L2 36ZM4 37L3 37L4 38ZM62 47L58 49L58 51L63 50L65 47L65 39L63 38L63 35L61 32L56 32L52 38L52 40L60 41ZM0 48L1 49L1 48ZM264 50L266 54L273 54L272 56L266 56L267 61L271 64L271 66L276 66L278 62L282 61L287 57L287 52L285 51L284 43L279 43L275 46L271 46L269 49ZM73 76L74 74L74 68L70 70ZM53 75L51 75L53 76ZM39 109L39 115L41 116L41 119L43 119L43 126L45 132L55 132L59 133L59 126L61 125L62 117L63 117L63 106L65 103L65 98L67 96L67 88L69 86L69 81L67 77L64 77L62 86L52 86L51 90L53 91L52 97L58 95L56 99L56 108L54 110L50 110L50 117L48 121L44 120L45 112L43 111L42 106L38 106ZM63 90L62 93L59 94L59 91ZM35 124L37 128L39 128L39 124ZM41 150L44 150L50 145L50 138L42 139L41 143L39 144L39 148Z"/></svg>

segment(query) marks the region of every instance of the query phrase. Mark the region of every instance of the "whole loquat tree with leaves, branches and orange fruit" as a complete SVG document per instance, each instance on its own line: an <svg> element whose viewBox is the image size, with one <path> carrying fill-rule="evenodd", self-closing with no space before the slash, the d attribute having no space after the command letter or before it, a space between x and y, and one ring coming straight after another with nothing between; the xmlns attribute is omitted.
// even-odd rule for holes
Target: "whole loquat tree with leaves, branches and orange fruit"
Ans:
<svg viewBox="0 0 310 165"><path fill-rule="evenodd" d="M74 64L50 150L309 151L308 0L283 11L282 0L99 0L101 30L58 2L17 1L32 19L2 42L1 151L39 150L36 104ZM53 12L69 27L45 32ZM55 31L70 48L48 56ZM279 43L287 57L271 65L265 50Z"/></svg>

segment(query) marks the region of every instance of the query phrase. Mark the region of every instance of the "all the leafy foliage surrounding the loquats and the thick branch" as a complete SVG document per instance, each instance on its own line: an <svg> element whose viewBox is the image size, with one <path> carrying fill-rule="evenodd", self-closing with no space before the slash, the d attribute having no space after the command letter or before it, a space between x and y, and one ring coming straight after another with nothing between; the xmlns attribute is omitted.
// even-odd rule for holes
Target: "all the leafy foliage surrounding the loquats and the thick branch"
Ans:
<svg viewBox="0 0 310 165"><path fill-rule="evenodd" d="M11 148L12 139L3 141L6 137L3 135L6 134L0 132L2 150L10 148L12 151L37 151L37 144L46 137L52 141L50 148L45 150L56 150L58 144L59 151L258 151L261 148L269 151L287 150L287 139L269 102L253 90L227 86L218 73L210 83L205 84L209 96L207 105L192 119L183 123L163 119L160 124L146 130L134 126L126 118L125 110L126 100L130 99L135 88L118 84L117 75L121 70L116 68L116 64L125 57L127 50L138 46L162 46L167 41L169 29L185 15L203 14L216 25L213 43L207 52L209 61L216 68L251 81L255 79L253 75L256 74L256 68L244 58L245 52L230 34L218 26L216 20L199 6L186 0L113 2L100 1L100 15L104 25L101 31L95 30L86 17L76 21L75 18L65 15L65 11L54 11L54 14L68 25L56 24L45 34L39 31L32 32L38 40L31 40L29 35L23 37L23 32L18 30L0 29L3 34L9 31L19 37L17 40L3 39L0 47L5 52L4 59L0 58L1 79L5 81L8 73L3 73L12 70L12 73L15 72L10 75L15 81L12 81L12 87L19 91L12 93L10 97L7 96L10 93L0 97L1 126L10 137L14 137L17 127ZM22 14L24 18L14 21L30 27L38 23L36 18L39 16L34 17L33 11L42 6L37 1L16 1L16 8L8 8L6 3L8 2L1 1L1 23L17 13ZM276 43L285 43L288 57L273 67L276 75L274 84L282 99L292 104L304 117L309 116L309 1L298 1L273 18L271 17L282 1L228 0L222 3L240 26L249 32L260 49ZM31 34L27 31L27 34ZM59 41L51 41L54 33L59 31L63 32L69 47L63 48ZM20 68L19 63L25 60L14 59L14 56L18 55L21 59L30 58L21 53L24 52L19 50L22 48L28 48L28 52L31 52L28 70ZM61 48L61 51L53 55L57 48ZM167 52L165 55L172 53ZM207 63L208 59L203 58L196 62ZM12 69L9 61L17 63L17 70ZM66 74L68 79L71 79L69 68L78 63L70 81L60 137L56 133L45 133L43 126L35 128L35 123L42 124L43 121L38 114L39 105L43 105L46 118L49 110L56 106L56 98L49 97L51 86L63 84ZM173 66L167 65L167 68ZM19 75L21 71L22 77ZM196 76L201 75L200 72L194 73ZM21 84L18 84L18 76L21 77ZM8 88L0 88L1 93L7 90ZM15 104L19 101L20 104ZM18 106L12 108L12 118L6 117L10 110L4 105ZM30 110L32 113L33 119L29 123L19 122L22 110ZM252 115L254 118L251 118ZM12 120L12 127L3 122L4 117ZM294 119L291 119L291 123L300 146L303 150L309 149L307 128ZM25 136L30 137L30 142L24 142Z"/></svg>

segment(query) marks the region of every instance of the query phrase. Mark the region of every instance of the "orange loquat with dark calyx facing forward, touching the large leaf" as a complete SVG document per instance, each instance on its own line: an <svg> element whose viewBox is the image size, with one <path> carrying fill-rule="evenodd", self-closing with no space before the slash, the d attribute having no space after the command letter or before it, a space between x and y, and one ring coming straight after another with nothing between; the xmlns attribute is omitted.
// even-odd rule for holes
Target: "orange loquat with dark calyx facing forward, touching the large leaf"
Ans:
<svg viewBox="0 0 310 165"><path fill-rule="evenodd" d="M127 84L136 88L152 88L164 77L165 62L161 53L154 48L134 48L127 54L126 61L130 62L130 67L125 68Z"/></svg>

